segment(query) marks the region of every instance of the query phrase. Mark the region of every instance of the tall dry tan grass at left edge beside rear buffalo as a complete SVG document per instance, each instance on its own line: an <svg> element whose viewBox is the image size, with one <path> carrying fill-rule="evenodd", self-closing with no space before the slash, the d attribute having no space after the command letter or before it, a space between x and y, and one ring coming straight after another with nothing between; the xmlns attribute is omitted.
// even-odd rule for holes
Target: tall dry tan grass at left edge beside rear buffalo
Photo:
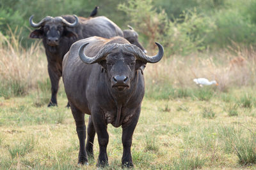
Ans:
<svg viewBox="0 0 256 170"><path fill-rule="evenodd" d="M4 98L27 94L38 80L47 75L47 64L41 59L40 41L26 49L20 45L17 29L10 31L9 35L3 36L0 32L0 81L3 82L0 96Z"/></svg>

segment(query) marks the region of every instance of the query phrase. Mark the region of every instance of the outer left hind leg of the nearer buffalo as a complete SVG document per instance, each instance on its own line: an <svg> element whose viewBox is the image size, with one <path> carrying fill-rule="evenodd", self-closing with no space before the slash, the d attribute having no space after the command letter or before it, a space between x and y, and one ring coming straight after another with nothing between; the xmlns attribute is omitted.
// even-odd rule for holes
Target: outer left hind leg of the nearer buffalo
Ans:
<svg viewBox="0 0 256 170"><path fill-rule="evenodd" d="M88 165L88 157L85 150L86 126L84 124L84 113L72 106L72 104L70 104L70 108L76 121L76 132L79 139L78 164Z"/></svg>

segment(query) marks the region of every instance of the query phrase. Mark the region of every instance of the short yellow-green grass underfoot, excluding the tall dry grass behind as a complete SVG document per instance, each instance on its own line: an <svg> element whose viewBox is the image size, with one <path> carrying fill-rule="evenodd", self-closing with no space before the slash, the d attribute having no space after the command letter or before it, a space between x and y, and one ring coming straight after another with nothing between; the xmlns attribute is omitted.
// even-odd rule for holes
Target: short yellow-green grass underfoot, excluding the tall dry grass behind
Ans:
<svg viewBox="0 0 256 170"><path fill-rule="evenodd" d="M143 99L131 147L135 169L256 168L255 139L248 131L255 129L256 120L252 118L255 106L252 104L248 110L234 103L223 104L218 93L209 100L196 99L192 94L197 90L190 89L189 97ZM36 106L36 94L35 89L24 97L0 97L1 167L95 169L99 155L97 136L95 159L89 159L88 167L76 165L79 140L71 111L65 108L63 85L58 107ZM240 100L236 98L240 94L240 90L228 92L232 101ZM237 110L239 114L228 116L228 110ZM122 169L122 128L108 125L108 132L109 166L105 169Z"/></svg>

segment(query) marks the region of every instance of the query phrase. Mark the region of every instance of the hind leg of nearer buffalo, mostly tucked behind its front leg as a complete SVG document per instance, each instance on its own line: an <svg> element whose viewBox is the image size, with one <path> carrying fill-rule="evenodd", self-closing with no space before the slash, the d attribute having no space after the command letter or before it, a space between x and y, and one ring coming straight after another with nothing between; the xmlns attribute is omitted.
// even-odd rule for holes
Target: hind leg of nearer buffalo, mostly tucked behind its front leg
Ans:
<svg viewBox="0 0 256 170"><path fill-rule="evenodd" d="M86 142L86 152L88 157L93 159L93 141L95 137L95 129L92 123L92 116L89 117L88 127L87 127L87 142Z"/></svg>

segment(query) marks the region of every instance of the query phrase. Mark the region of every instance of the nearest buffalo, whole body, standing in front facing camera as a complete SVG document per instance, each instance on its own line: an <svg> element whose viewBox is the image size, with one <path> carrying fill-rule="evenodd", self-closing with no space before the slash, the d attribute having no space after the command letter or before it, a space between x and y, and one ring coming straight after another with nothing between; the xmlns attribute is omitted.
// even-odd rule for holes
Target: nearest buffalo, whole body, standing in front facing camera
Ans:
<svg viewBox="0 0 256 170"><path fill-rule="evenodd" d="M107 125L122 125L122 166L132 167L132 134L140 117L144 96L142 64L155 63L163 57L163 46L149 57L136 45L121 37L91 37L74 43L63 59L63 83L76 121L79 138L79 164L88 164L93 157L95 132L99 141L97 166L108 165L106 148L109 141ZM90 115L87 129L84 113Z"/></svg>

